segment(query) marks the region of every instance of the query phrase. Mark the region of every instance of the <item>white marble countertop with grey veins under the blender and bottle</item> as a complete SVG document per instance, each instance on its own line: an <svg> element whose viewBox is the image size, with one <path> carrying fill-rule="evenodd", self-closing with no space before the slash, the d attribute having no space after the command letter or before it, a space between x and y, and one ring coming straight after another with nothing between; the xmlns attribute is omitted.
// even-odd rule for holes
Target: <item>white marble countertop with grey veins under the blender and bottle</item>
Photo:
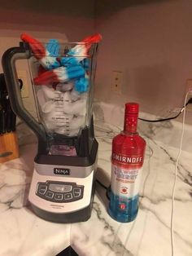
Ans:
<svg viewBox="0 0 192 256"><path fill-rule="evenodd" d="M95 117L99 143L97 179L108 187L111 179L111 139L120 132L122 123L107 124L104 116L98 109ZM181 133L175 133L178 124L174 121L156 125L139 122L138 126L147 147L139 212L132 223L118 223L107 214L106 191L98 183L92 215L85 223L50 223L33 214L27 198L37 143L33 135L23 134L20 138L20 158L0 165L0 255L53 256L68 245L83 256L171 255L172 186L179 144L177 147L172 145L170 141L174 138L170 136L176 134L180 137ZM191 144L190 135L185 136ZM185 150L184 147L181 152L177 172L173 215L174 255L190 256L192 152L188 148Z"/></svg>

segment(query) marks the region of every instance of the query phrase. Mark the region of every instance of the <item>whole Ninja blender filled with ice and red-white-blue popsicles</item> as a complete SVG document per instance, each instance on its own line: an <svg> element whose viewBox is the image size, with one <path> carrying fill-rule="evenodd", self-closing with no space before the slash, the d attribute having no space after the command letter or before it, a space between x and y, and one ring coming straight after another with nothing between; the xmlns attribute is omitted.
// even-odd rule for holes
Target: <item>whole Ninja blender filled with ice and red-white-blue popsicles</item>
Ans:
<svg viewBox="0 0 192 256"><path fill-rule="evenodd" d="M28 200L41 218L56 223L91 215L97 170L92 102L100 34L81 42L41 43L21 35L2 56L11 107L37 135ZM24 107L16 60L28 60L37 118Z"/></svg>

